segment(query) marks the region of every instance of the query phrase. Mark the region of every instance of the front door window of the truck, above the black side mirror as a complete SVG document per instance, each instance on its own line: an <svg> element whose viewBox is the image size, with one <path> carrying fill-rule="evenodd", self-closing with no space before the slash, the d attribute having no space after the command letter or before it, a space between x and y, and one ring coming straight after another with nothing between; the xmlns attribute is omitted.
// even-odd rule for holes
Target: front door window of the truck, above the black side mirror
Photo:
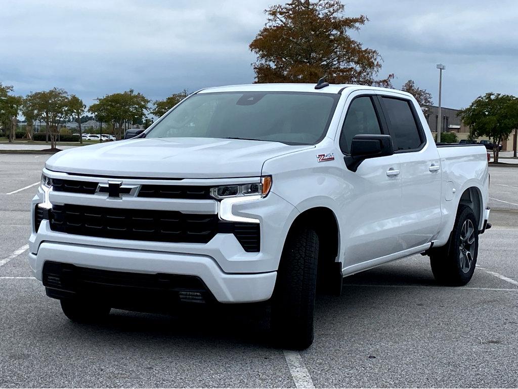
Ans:
<svg viewBox="0 0 518 389"><path fill-rule="evenodd" d="M347 110L340 135L340 149L344 153L351 150L353 137L358 134L381 134L376 111L368 96L355 98Z"/></svg>

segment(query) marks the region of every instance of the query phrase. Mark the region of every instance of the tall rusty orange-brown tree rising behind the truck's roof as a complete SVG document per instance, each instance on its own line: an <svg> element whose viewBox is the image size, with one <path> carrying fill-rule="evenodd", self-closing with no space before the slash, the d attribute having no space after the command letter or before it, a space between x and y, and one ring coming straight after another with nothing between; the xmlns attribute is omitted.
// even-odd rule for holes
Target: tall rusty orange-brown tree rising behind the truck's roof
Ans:
<svg viewBox="0 0 518 389"><path fill-rule="evenodd" d="M357 83L389 87L394 75L377 80L382 58L348 35L367 17L345 17L339 0L291 0L265 10L267 22L249 48L255 82Z"/></svg>

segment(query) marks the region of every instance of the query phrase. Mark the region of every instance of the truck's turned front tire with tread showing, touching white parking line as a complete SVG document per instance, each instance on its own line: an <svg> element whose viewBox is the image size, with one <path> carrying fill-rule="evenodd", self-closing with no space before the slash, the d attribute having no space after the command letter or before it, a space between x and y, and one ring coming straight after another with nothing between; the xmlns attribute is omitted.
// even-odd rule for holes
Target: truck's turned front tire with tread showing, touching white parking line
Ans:
<svg viewBox="0 0 518 389"><path fill-rule="evenodd" d="M271 305L271 329L281 348L304 350L313 343L318 254L314 230L300 228L288 234Z"/></svg>

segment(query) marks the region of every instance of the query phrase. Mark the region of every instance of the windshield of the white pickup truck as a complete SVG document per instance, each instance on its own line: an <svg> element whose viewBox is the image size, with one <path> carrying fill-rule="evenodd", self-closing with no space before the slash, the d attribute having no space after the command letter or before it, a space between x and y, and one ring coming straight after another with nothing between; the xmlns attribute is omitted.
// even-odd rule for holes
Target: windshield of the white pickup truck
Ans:
<svg viewBox="0 0 518 389"><path fill-rule="evenodd" d="M314 145L325 136L338 94L198 93L156 123L146 138L197 137Z"/></svg>

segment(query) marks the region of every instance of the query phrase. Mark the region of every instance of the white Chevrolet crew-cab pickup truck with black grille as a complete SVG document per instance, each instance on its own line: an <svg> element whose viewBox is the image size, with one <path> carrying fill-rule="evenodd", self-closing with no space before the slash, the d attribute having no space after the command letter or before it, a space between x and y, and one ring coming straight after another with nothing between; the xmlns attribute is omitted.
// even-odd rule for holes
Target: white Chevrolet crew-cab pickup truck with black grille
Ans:
<svg viewBox="0 0 518 389"><path fill-rule="evenodd" d="M133 139L52 156L30 265L71 320L271 302L313 340L315 291L416 253L464 285L491 225L485 147L437 147L408 93L253 84L193 93Z"/></svg>

